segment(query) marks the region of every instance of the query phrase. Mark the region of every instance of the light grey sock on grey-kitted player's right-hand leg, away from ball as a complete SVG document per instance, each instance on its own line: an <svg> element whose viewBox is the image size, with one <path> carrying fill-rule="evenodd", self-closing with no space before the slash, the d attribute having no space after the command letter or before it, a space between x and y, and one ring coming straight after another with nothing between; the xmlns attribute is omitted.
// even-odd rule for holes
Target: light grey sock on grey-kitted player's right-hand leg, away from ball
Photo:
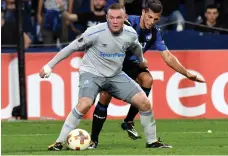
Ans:
<svg viewBox="0 0 228 156"><path fill-rule="evenodd" d="M147 143L151 144L157 141L156 124L152 111L139 112L139 114Z"/></svg>

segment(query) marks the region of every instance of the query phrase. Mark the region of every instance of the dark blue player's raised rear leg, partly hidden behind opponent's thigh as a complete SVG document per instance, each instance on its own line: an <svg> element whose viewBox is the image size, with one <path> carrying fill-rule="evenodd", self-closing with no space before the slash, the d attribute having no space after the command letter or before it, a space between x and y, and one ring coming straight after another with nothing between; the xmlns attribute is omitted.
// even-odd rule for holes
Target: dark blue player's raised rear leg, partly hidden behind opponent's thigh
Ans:
<svg viewBox="0 0 228 156"><path fill-rule="evenodd" d="M145 94L149 96L151 86L153 84L152 75L149 73L149 71L145 69L134 69L132 72L133 74L131 72L128 73L129 76L133 79L136 79L136 82L141 86ZM137 78L134 78L134 77L137 77ZM139 112L138 108L136 108L134 105L131 105L126 118L121 124L122 129L126 130L128 133L128 136L134 140L140 138L140 136L138 135L137 131L134 128L134 122L133 122L138 112Z"/></svg>

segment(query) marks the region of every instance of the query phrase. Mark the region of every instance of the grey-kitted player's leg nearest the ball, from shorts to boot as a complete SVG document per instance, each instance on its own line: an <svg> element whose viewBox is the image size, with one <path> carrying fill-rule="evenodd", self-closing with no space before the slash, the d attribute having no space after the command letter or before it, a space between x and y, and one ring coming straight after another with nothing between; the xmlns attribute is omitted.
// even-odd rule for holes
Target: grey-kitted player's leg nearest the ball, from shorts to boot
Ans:
<svg viewBox="0 0 228 156"><path fill-rule="evenodd" d="M48 147L48 150L60 151L67 141L68 134L75 129L84 114L86 114L94 103L94 99L100 92L100 84L105 79L91 73L83 73L79 78L79 102L68 114L56 142Z"/></svg>

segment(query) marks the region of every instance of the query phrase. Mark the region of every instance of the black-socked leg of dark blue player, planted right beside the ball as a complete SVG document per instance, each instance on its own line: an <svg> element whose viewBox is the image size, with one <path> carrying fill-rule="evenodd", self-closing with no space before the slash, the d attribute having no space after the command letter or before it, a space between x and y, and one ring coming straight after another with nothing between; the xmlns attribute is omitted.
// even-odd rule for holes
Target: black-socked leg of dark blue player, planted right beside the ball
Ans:
<svg viewBox="0 0 228 156"><path fill-rule="evenodd" d="M94 149L98 145L99 134L107 118L107 108L111 99L112 96L110 96L107 92L103 91L100 93L99 102L97 103L93 112L91 142L88 149Z"/></svg>

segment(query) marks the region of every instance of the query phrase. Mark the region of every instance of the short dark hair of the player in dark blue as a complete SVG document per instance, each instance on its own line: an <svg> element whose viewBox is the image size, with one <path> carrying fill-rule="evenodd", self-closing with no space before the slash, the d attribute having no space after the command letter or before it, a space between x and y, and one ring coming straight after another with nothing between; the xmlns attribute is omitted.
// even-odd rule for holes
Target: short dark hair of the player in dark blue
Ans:
<svg viewBox="0 0 228 156"><path fill-rule="evenodd" d="M160 0L147 0L144 10L153 11L154 13L162 13L163 6Z"/></svg>

